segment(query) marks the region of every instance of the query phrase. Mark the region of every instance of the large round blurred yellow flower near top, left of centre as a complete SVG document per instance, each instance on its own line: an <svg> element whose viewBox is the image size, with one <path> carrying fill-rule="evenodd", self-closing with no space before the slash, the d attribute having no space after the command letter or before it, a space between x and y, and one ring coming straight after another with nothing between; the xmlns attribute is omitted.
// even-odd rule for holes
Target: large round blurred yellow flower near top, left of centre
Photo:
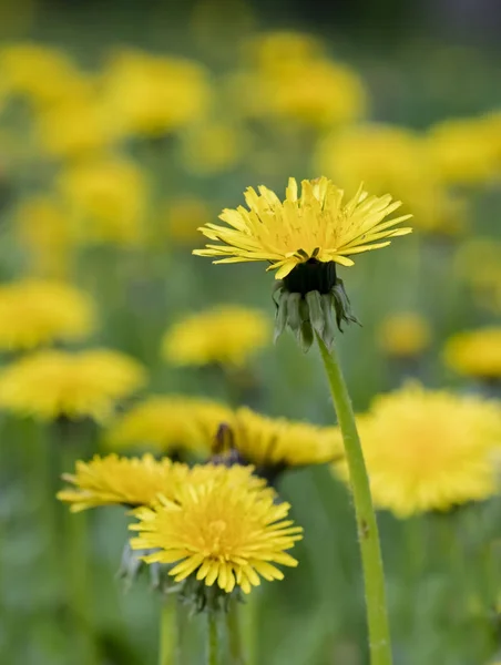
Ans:
<svg viewBox="0 0 501 665"><path fill-rule="evenodd" d="M204 116L211 96L203 65L181 58L124 50L103 74L104 103L125 134L175 132Z"/></svg>

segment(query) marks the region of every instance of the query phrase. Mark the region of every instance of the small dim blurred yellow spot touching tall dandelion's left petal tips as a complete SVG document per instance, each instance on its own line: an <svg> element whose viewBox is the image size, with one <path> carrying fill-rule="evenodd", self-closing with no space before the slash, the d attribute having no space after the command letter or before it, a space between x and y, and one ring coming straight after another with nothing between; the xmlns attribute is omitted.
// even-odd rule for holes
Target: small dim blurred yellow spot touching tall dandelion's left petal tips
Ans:
<svg viewBox="0 0 501 665"><path fill-rule="evenodd" d="M198 227L208 224L213 214L202 198L185 196L167 202L160 218L170 238L178 244L191 244L198 237Z"/></svg>

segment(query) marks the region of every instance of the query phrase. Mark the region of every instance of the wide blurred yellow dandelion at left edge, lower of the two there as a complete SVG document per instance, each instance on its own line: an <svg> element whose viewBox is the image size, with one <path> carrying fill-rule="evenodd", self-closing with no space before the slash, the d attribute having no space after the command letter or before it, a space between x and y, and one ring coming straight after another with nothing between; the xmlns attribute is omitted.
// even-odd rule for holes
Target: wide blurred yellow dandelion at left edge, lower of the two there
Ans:
<svg viewBox="0 0 501 665"><path fill-rule="evenodd" d="M0 408L40 420L101 421L144 382L143 367L119 351L38 351L2 370Z"/></svg>

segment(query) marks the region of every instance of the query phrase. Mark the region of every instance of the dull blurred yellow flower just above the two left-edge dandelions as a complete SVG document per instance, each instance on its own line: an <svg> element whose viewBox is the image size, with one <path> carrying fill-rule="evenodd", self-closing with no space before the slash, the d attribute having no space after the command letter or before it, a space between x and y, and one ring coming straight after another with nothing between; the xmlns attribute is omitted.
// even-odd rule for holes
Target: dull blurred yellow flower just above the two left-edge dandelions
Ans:
<svg viewBox="0 0 501 665"><path fill-rule="evenodd" d="M58 279L68 276L74 242L60 201L41 194L21 202L16 231L22 248L28 252L30 273Z"/></svg>

